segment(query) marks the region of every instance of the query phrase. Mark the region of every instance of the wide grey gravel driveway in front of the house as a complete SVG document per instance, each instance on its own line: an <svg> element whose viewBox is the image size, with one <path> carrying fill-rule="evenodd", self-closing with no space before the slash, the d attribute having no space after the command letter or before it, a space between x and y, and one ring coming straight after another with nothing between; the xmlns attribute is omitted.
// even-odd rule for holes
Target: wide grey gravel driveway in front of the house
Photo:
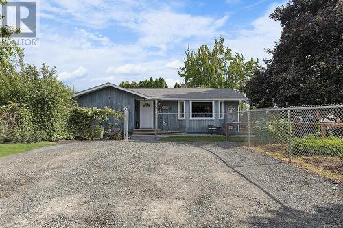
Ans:
<svg viewBox="0 0 343 228"><path fill-rule="evenodd" d="M0 227L343 226L340 186L227 142L75 142L0 167Z"/></svg>

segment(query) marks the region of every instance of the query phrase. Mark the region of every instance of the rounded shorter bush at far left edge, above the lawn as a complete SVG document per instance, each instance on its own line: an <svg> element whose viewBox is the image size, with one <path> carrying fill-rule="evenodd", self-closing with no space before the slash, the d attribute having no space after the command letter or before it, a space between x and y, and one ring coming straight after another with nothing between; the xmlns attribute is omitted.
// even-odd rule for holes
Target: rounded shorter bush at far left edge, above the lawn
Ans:
<svg viewBox="0 0 343 228"><path fill-rule="evenodd" d="M0 108L0 136L2 142L39 142L45 133L34 124L27 107L11 103Z"/></svg>

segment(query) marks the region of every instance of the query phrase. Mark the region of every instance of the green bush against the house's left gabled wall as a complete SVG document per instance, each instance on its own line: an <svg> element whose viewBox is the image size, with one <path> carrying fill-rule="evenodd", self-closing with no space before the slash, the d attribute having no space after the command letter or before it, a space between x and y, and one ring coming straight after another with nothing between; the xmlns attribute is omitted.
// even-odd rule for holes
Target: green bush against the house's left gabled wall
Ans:
<svg viewBox="0 0 343 228"><path fill-rule="evenodd" d="M115 118L115 121L119 121L122 116L122 112L111 110L108 107L104 109L76 107L69 118L69 126L76 140L93 140L104 127L113 129L108 123L111 117Z"/></svg>

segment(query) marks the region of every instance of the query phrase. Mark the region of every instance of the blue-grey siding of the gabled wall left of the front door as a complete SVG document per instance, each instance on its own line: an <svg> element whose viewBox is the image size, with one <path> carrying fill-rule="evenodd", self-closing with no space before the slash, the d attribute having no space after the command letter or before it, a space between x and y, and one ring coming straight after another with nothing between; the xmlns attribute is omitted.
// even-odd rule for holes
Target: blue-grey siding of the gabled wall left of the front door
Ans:
<svg viewBox="0 0 343 228"><path fill-rule="evenodd" d="M141 99L141 97L129 92L117 90L116 88L108 87L80 96L78 98L78 106L98 108L110 107L113 110L123 110L124 107L128 107L130 113L129 131L132 131L135 124L135 99Z"/></svg>

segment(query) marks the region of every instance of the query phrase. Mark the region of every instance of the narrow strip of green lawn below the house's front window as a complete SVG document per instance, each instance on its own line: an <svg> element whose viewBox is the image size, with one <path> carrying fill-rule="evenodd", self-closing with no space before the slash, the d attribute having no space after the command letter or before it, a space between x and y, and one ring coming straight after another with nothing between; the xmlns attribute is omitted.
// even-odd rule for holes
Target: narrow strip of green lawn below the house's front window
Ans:
<svg viewBox="0 0 343 228"><path fill-rule="evenodd" d="M169 136L161 138L164 142L226 142L226 136ZM244 137L230 137L230 142L244 142Z"/></svg>

